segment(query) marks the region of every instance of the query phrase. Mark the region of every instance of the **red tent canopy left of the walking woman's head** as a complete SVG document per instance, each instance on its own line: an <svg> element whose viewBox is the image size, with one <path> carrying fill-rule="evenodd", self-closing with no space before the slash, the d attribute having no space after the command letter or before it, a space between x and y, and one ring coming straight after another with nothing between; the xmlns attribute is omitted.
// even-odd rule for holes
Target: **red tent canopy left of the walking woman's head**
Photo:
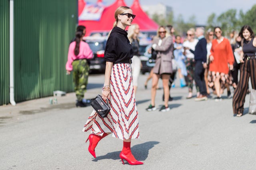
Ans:
<svg viewBox="0 0 256 170"><path fill-rule="evenodd" d="M112 5L106 7L102 12L99 21L85 21L79 20L78 25L86 26L86 35L88 36L92 31L110 31L113 28L115 21L114 12L119 6L127 6L124 0L116 0Z"/></svg>

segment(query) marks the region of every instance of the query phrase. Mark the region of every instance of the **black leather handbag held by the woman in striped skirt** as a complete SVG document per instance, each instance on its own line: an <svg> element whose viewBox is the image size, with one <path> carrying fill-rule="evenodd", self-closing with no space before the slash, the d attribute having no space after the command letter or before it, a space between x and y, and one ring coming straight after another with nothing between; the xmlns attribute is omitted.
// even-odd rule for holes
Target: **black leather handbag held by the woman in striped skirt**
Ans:
<svg viewBox="0 0 256 170"><path fill-rule="evenodd" d="M100 117L107 117L108 112L110 111L110 107L108 106L108 99L106 103L98 94L96 98L91 99L91 105L94 110L100 115Z"/></svg>

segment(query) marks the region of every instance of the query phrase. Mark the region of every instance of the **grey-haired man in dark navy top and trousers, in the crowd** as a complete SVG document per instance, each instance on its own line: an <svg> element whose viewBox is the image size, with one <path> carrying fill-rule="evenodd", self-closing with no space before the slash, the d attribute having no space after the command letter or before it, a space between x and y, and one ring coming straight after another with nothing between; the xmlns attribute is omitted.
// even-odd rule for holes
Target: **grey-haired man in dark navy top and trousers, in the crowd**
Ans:
<svg viewBox="0 0 256 170"><path fill-rule="evenodd" d="M198 43L194 51L195 55L195 72L194 79L199 87L200 95L195 99L196 101L207 100L206 84L204 81L204 69L207 68L206 55L207 55L207 41L204 38L204 27L196 28L196 37L198 37Z"/></svg>

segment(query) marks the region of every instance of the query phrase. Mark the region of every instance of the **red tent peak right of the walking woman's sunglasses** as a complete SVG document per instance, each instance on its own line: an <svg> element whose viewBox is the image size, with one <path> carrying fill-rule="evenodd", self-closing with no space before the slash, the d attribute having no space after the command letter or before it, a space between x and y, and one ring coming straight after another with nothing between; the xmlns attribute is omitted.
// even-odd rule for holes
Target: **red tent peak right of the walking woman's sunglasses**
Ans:
<svg viewBox="0 0 256 170"><path fill-rule="evenodd" d="M148 15L141 9L139 0L134 0L132 6L130 7L132 12L136 17L132 23L137 23L142 31L156 31L158 29L158 24L151 20Z"/></svg>

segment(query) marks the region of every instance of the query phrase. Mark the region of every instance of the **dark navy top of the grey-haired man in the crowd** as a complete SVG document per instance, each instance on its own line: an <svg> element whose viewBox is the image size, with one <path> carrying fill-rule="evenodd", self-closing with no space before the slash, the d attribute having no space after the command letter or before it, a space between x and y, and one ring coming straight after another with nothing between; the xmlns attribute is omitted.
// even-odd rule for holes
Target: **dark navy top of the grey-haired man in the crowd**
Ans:
<svg viewBox="0 0 256 170"><path fill-rule="evenodd" d="M207 60L206 45L207 45L207 41L205 38L202 38L198 41L194 51L195 61L202 61L206 63L206 60Z"/></svg>

